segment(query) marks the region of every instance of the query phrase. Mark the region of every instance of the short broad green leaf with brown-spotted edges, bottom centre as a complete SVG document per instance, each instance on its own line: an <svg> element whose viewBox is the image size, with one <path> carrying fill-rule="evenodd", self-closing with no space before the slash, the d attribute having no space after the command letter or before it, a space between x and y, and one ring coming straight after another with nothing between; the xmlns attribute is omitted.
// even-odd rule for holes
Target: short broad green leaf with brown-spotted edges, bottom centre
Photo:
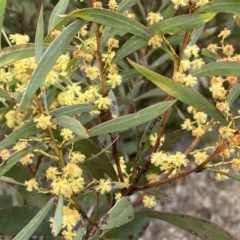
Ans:
<svg viewBox="0 0 240 240"><path fill-rule="evenodd" d="M119 227L134 218L134 210L129 197L121 198L114 207L101 218L99 228L103 230Z"/></svg>

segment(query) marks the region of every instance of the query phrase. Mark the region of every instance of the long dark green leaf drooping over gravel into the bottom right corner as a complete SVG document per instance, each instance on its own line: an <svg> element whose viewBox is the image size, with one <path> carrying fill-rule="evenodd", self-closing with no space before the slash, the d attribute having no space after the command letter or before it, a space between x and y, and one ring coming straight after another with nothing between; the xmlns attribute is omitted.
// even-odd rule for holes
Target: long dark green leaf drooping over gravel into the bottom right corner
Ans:
<svg viewBox="0 0 240 240"><path fill-rule="evenodd" d="M237 240L232 234L214 223L184 214L140 211L136 215L171 223L203 240Z"/></svg>

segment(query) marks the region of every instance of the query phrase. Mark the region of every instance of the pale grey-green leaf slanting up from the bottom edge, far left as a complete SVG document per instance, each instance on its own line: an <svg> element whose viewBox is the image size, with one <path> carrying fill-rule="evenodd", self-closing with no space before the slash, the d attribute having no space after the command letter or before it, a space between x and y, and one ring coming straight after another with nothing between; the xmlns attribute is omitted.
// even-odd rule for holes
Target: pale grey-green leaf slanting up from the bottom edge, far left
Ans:
<svg viewBox="0 0 240 240"><path fill-rule="evenodd" d="M37 213L37 215L22 229L22 231L14 237L14 240L29 239L53 206L53 199L50 199L47 204Z"/></svg>

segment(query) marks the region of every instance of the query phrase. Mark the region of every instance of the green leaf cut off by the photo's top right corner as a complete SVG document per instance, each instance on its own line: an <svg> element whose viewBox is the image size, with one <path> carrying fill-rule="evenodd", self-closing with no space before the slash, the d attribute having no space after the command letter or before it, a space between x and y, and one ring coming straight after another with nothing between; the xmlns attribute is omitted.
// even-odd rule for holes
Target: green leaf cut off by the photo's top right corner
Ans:
<svg viewBox="0 0 240 240"><path fill-rule="evenodd" d="M239 0L214 0L197 10L198 12L226 12L240 14Z"/></svg>

